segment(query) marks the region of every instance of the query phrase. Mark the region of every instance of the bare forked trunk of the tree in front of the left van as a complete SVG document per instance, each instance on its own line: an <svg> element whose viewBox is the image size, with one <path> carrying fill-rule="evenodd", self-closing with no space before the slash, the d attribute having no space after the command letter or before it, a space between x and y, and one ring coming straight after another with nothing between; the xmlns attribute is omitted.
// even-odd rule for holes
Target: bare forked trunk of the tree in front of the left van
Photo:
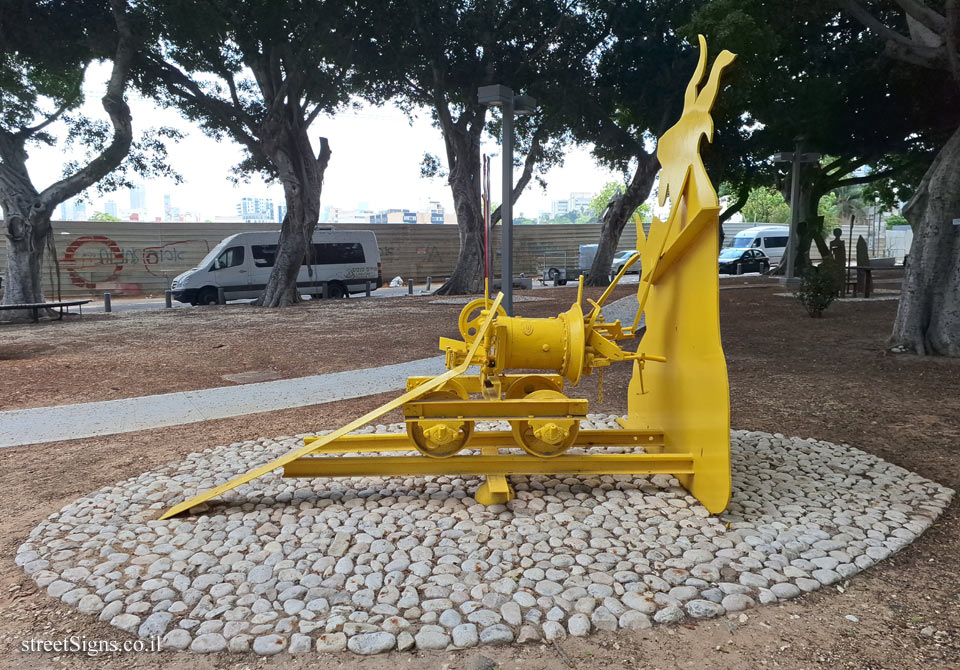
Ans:
<svg viewBox="0 0 960 670"><path fill-rule="evenodd" d="M267 155L280 171L287 214L280 227L273 271L257 300L263 307L286 307L300 302L297 276L320 218L323 175L331 155L325 137L320 138L320 153L314 158L305 129L286 128L282 135L282 142L264 142Z"/></svg>

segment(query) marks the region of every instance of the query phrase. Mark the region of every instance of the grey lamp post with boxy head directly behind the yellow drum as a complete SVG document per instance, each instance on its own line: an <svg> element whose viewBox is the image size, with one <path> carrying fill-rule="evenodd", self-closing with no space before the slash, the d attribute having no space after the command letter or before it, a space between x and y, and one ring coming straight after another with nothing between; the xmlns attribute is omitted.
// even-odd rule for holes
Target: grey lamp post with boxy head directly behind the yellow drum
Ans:
<svg viewBox="0 0 960 670"><path fill-rule="evenodd" d="M503 112L500 289L503 291L503 308L509 316L513 316L513 117L515 114L532 114L537 101L529 95L514 95L511 89L500 84L481 86L477 90L477 100L488 107L501 107Z"/></svg>

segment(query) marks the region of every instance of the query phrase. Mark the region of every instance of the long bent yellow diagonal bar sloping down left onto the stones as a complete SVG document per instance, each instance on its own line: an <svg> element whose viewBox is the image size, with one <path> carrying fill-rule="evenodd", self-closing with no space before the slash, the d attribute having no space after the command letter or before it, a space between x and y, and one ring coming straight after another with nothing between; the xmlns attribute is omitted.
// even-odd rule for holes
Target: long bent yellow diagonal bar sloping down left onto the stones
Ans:
<svg viewBox="0 0 960 670"><path fill-rule="evenodd" d="M177 514L180 514L181 512L187 511L191 507L196 507L200 503L204 503L210 500L211 498L215 498L216 496L226 493L231 489L235 489L241 484L246 484L247 482L253 479L256 479L257 477L262 477L268 472L272 472L273 470L276 470L277 468L282 467L287 463L290 463L291 461L297 460L301 456L304 456L312 451L316 451L318 448L322 447L324 444L328 442L332 442L338 437L341 437L343 435L346 435L347 433L353 432L358 428L362 428L367 423L373 421L378 417L383 416L387 412L390 412L402 406L404 403L409 402L411 400L416 400L417 398L422 397L424 394L432 391L433 389L439 386L442 386L447 381L449 381L450 379L453 379L457 375L462 375L470 367L470 360L473 358L473 355L477 352L477 349L480 347L480 344L483 342L483 335L490 328L490 324L493 323L493 319L497 314L497 307L500 306L500 303L502 301L503 301L503 294L498 293L496 299L493 301L493 307L490 309L489 313L487 314L487 318L484 320L483 325L480 326L480 330L477 332L477 335L473 340L473 346L470 347L470 351L467 353L466 359L464 360L463 363L461 363L457 367L453 368L452 370L448 370L447 372L444 372L439 377L435 377L432 381L429 381L426 384L422 384L421 386L418 386L412 391L407 391L406 393L401 395L399 398L395 398L391 400L386 405L382 405L375 410L367 412L366 414L361 416L359 419L355 419L354 421L351 421L346 426L343 426L342 428L338 428L332 433L329 433L328 435L323 436L316 442L305 444L299 449L294 449L293 451L284 454L280 458L272 460L269 463L266 463L265 465L261 465L259 468L255 468L246 474L243 474L243 475L240 475L239 477L231 479L230 481L225 482L215 488L212 488L209 491L204 491L200 495L194 498L191 498L190 500L184 501L179 505L174 505L173 507L168 509L160 518L169 519L172 516L175 516Z"/></svg>

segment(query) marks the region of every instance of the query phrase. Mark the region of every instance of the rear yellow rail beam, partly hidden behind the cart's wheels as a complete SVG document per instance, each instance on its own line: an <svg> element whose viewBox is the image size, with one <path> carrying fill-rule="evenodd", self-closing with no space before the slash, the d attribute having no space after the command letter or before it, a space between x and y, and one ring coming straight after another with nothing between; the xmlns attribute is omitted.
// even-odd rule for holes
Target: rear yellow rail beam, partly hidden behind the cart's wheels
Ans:
<svg viewBox="0 0 960 670"><path fill-rule="evenodd" d="M320 437L305 437L304 444L314 444ZM655 430L581 430L574 447L643 447L662 449L663 433ZM470 437L467 449L519 448L513 433L506 430L481 430ZM344 435L336 442L318 447L312 454L371 453L378 451L414 451L406 433L366 433Z"/></svg>

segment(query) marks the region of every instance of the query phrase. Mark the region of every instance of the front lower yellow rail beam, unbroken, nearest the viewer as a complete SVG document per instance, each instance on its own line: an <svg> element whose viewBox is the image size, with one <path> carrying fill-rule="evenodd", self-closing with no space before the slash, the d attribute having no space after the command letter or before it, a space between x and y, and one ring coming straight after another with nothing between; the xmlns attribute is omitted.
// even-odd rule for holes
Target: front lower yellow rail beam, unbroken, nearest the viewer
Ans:
<svg viewBox="0 0 960 670"><path fill-rule="evenodd" d="M394 477L431 475L648 475L693 473L691 454L554 456L304 456L284 465L284 477Z"/></svg>

